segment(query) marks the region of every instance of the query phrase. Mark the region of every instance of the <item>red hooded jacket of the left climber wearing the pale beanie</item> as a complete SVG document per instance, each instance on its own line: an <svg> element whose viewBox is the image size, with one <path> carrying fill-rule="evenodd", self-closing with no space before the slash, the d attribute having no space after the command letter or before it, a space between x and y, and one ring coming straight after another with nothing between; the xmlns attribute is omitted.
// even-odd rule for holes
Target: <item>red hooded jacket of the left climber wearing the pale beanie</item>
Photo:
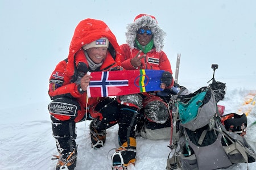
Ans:
<svg viewBox="0 0 256 170"><path fill-rule="evenodd" d="M59 97L75 97L82 107L86 106L86 91L80 93L76 83L78 72L77 68L83 66L84 72L88 62L86 61L82 46L90 42L106 37L109 40L107 56L100 67L100 71L108 71L112 67L118 66L114 60L120 54L117 40L110 31L108 25L101 20L85 19L75 28L74 35L69 46L68 58L59 62L49 78L48 94L51 99ZM86 73L85 73L86 74ZM95 104L100 98L89 98L88 106Z"/></svg>

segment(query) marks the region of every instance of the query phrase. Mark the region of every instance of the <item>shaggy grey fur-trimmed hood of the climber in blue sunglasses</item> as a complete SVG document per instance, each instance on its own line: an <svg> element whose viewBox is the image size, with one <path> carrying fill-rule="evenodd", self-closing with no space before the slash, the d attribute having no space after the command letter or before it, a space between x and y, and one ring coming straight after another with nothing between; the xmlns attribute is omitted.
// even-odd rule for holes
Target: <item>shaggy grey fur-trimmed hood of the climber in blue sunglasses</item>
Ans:
<svg viewBox="0 0 256 170"><path fill-rule="evenodd" d="M156 52L160 52L164 46L164 36L166 32L158 25L155 16L148 14L139 14L135 17L134 22L127 25L126 42L131 49L134 49L134 41L137 37L137 31L141 27L150 27L153 33L154 45Z"/></svg>

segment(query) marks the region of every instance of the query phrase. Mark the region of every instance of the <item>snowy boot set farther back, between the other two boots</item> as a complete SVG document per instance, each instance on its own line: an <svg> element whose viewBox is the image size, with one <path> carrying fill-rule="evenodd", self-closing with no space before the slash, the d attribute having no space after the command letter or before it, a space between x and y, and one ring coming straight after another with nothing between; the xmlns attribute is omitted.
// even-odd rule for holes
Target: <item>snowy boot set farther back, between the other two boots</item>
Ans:
<svg viewBox="0 0 256 170"><path fill-rule="evenodd" d="M94 149L104 146L106 141L106 130L96 128L96 121L90 122L90 140Z"/></svg>

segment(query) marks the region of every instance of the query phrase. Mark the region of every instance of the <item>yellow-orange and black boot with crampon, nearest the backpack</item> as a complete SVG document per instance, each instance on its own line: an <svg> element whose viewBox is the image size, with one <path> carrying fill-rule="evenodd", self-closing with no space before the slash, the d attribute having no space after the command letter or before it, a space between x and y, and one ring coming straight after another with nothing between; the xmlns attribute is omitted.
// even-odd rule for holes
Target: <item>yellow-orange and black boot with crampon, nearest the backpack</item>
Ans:
<svg viewBox="0 0 256 170"><path fill-rule="evenodd" d="M129 164L135 164L136 139L129 139L129 142L123 143L112 155L112 169L126 169Z"/></svg>

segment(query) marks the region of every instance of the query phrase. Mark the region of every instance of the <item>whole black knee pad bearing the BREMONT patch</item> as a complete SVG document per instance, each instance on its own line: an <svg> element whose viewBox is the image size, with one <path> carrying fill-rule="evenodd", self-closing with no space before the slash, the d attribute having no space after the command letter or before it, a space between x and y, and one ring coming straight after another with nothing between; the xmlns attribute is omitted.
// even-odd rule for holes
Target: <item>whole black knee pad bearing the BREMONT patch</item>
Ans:
<svg viewBox="0 0 256 170"><path fill-rule="evenodd" d="M71 119L75 119L77 112L81 110L81 107L76 99L61 97L52 100L48 105L48 110L53 115L71 116Z"/></svg>

